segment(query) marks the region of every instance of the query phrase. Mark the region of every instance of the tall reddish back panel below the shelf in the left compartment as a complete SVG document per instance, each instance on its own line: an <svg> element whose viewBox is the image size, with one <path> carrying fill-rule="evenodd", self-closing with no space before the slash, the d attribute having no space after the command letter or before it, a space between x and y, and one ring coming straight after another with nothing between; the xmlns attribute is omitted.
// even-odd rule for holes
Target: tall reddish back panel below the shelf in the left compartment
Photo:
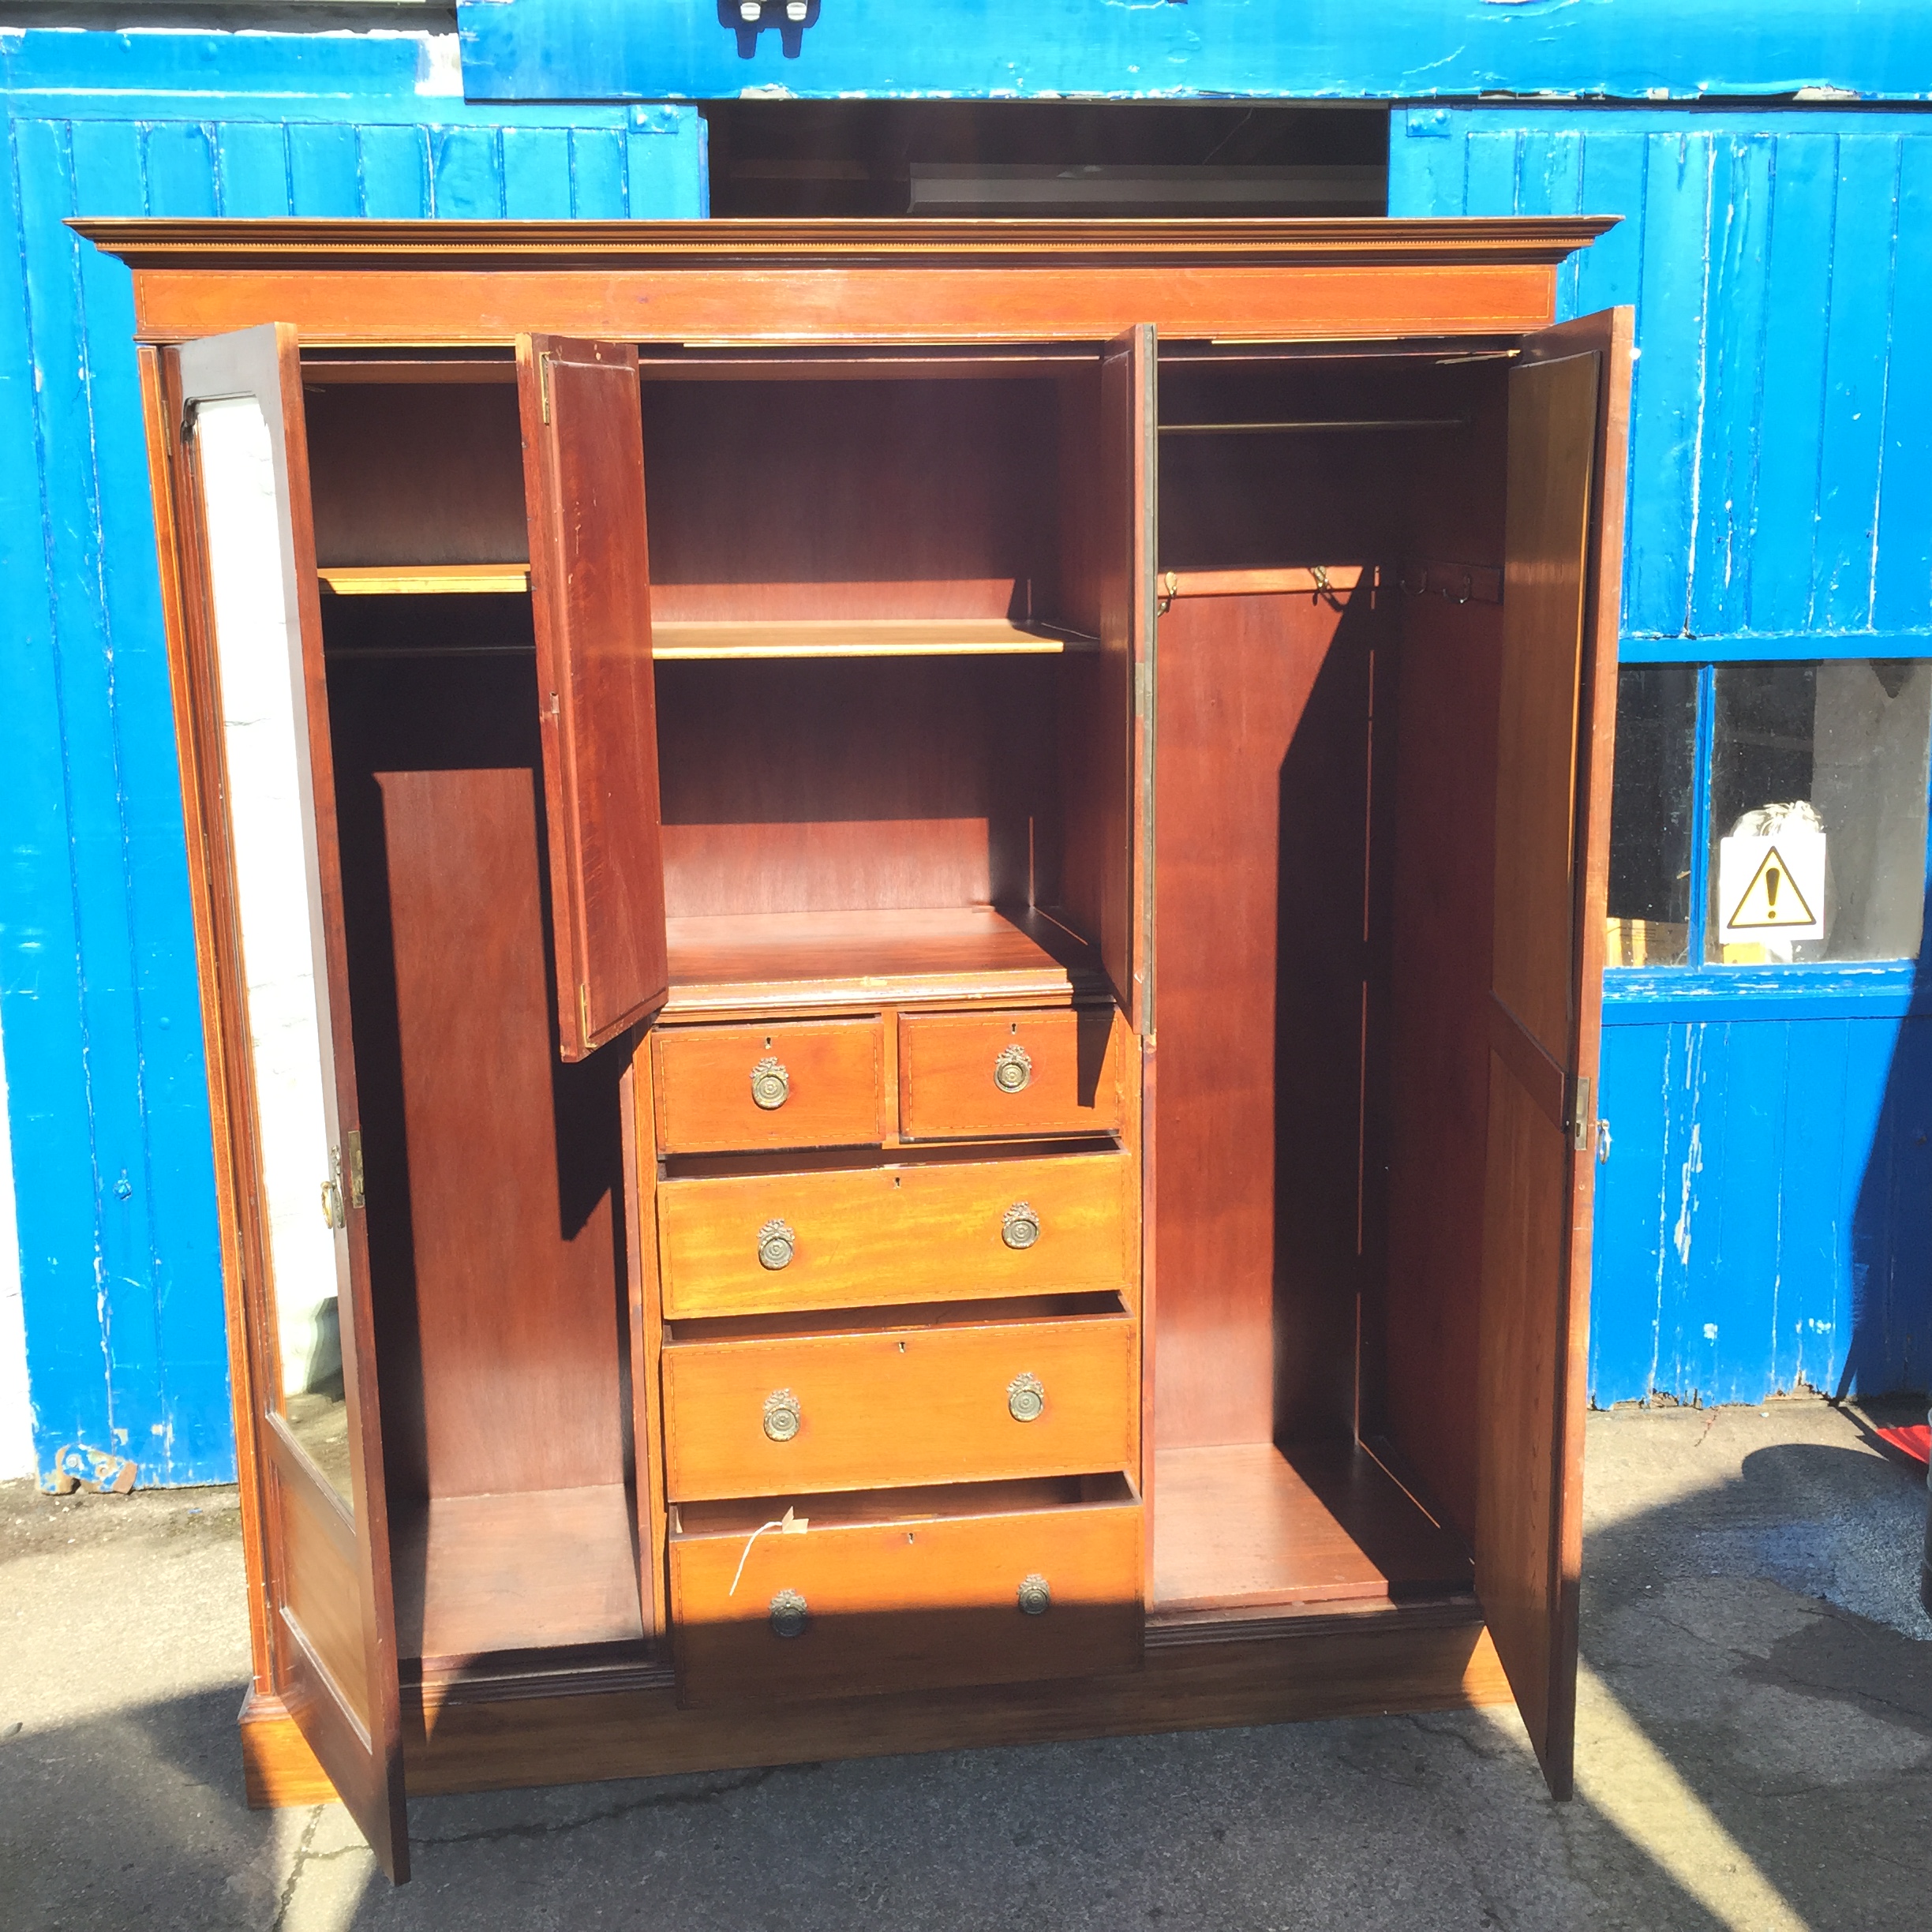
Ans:
<svg viewBox="0 0 1932 1932"><path fill-rule="evenodd" d="M518 611L394 599L330 632ZM618 1068L556 1059L529 663L336 663L330 715L392 1492L622 1482Z"/></svg>

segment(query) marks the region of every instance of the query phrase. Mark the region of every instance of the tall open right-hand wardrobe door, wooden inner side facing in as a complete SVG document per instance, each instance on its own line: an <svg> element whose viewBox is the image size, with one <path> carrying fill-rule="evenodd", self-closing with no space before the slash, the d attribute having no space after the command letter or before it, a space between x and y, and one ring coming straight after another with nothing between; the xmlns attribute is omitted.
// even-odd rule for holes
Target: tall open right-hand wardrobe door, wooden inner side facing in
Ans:
<svg viewBox="0 0 1932 1932"><path fill-rule="evenodd" d="M1598 1024L1631 311L1528 336L1509 375L1476 1592L1571 1791Z"/></svg>

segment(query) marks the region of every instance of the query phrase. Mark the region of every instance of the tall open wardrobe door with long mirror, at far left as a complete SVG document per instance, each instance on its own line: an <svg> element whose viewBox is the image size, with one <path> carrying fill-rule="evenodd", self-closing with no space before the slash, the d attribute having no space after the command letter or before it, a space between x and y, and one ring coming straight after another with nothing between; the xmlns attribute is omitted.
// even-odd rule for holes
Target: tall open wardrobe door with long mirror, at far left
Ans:
<svg viewBox="0 0 1932 1932"><path fill-rule="evenodd" d="M160 363L182 560L189 856L222 1242L245 1349L267 1669L390 1878L408 1878L396 1615L342 871L296 332ZM253 1532L251 1532L253 1534Z"/></svg>

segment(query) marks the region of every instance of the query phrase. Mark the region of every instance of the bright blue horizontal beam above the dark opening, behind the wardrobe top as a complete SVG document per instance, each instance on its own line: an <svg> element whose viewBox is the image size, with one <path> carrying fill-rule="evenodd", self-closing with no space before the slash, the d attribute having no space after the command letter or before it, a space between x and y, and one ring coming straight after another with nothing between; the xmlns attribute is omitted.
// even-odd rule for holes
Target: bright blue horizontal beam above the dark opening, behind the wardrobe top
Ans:
<svg viewBox="0 0 1932 1932"><path fill-rule="evenodd" d="M460 0L473 100L1621 100L1932 89L1922 0L827 0L802 33L746 37L736 6ZM777 10L773 10L777 12Z"/></svg>

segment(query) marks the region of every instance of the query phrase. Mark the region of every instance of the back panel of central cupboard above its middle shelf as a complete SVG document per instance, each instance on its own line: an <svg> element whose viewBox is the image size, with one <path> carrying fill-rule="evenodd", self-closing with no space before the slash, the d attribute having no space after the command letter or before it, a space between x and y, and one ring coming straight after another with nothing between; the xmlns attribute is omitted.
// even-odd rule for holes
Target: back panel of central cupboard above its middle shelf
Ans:
<svg viewBox="0 0 1932 1932"><path fill-rule="evenodd" d="M1053 390L645 383L653 612L1047 614Z"/></svg>

